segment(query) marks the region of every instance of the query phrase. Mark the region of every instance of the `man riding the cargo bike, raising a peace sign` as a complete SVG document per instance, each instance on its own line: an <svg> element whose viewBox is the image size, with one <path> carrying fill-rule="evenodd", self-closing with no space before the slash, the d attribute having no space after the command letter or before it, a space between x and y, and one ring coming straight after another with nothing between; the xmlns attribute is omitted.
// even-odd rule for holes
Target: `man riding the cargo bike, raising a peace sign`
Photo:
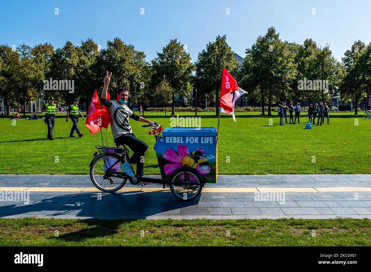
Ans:
<svg viewBox="0 0 371 272"><path fill-rule="evenodd" d="M133 154L130 159L122 164L121 169L129 176L134 177L131 164L137 164L137 175L143 177L144 167L144 153L148 148L148 145L139 140L132 132L131 126L129 125L129 117L135 121L145 122L153 124L154 122L147 120L130 110L125 105L128 100L129 90L128 88L121 87L117 90L117 100L107 99L107 89L111 80L112 72L106 71L107 75L104 78L104 88L101 95L101 102L105 105L111 115L111 131L114 137L115 143L124 145L126 144L132 151Z"/></svg>

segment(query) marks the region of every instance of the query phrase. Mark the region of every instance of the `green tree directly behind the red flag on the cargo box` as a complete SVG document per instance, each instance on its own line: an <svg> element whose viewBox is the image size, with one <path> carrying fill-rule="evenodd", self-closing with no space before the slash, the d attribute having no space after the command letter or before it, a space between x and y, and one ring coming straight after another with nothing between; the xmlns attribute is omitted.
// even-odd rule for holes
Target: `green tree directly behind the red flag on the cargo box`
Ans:
<svg viewBox="0 0 371 272"><path fill-rule="evenodd" d="M216 40L206 45L206 49L198 53L196 61L195 87L197 95L208 100L215 100L216 116L219 116L219 93L223 67L230 74L236 75L239 63L234 59L234 52L227 44L227 36L217 36Z"/></svg>

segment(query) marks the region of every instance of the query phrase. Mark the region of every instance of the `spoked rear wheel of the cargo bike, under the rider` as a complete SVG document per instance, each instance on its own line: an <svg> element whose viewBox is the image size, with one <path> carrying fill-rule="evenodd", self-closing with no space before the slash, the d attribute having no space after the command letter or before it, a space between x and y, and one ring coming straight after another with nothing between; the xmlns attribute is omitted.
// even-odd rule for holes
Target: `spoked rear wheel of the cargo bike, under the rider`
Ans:
<svg viewBox="0 0 371 272"><path fill-rule="evenodd" d="M127 179L113 177L113 175L121 170L122 162L116 161L119 160L118 155L99 155L93 161L93 164L90 168L90 178L96 188L103 192L115 192L121 189ZM112 165L111 169L109 169Z"/></svg>

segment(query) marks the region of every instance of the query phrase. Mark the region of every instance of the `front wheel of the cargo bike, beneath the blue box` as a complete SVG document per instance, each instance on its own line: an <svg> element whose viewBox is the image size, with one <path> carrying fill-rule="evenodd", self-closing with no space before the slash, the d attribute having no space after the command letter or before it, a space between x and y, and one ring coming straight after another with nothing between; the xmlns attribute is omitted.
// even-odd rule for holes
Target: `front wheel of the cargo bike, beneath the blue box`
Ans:
<svg viewBox="0 0 371 272"><path fill-rule="evenodd" d="M169 187L174 197L181 200L195 199L200 195L203 180L192 168L182 168L174 172L170 178Z"/></svg>

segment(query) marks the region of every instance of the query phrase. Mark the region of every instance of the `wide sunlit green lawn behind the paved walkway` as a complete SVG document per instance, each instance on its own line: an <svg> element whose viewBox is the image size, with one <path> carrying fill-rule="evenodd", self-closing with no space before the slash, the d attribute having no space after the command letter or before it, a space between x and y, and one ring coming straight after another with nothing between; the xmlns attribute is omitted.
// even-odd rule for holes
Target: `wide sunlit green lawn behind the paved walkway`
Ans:
<svg viewBox="0 0 371 272"><path fill-rule="evenodd" d="M180 115L194 116L194 113ZM217 127L215 113L198 115L202 127ZM218 143L219 174L370 174L371 120L364 120L362 115L363 112L357 116L331 113L330 125L305 130L306 113L302 114L302 124L284 126L279 126L277 113L273 113L273 117L237 113L237 122L223 114ZM80 118L79 127L84 136L69 138L71 120L66 123L64 114L58 117L54 141L46 140L47 127L41 119L20 120L12 125L10 118L0 118L0 173L88 174L96 151L94 146L102 144L101 133L91 135ZM170 116L165 117L164 113L145 113L145 118L170 126ZM153 135L141 127L143 123L130 119L130 124L134 134L149 146L145 174L160 174ZM106 130L102 132L106 142ZM108 145L114 145L110 127L107 135ZM226 162L227 156L230 162Z"/></svg>

